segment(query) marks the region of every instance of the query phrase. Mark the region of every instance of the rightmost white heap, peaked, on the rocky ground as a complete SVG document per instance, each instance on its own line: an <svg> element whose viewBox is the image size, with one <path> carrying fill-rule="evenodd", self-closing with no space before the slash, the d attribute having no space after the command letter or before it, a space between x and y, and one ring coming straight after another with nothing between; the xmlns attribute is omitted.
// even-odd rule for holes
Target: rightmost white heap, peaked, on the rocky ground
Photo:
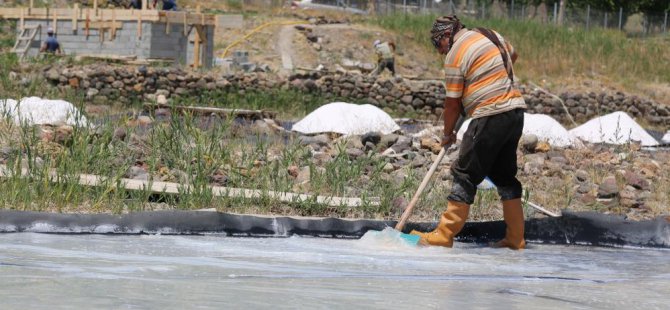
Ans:
<svg viewBox="0 0 670 310"><path fill-rule="evenodd" d="M656 139L621 111L596 117L570 130L570 133L591 143L626 144L639 141L642 146L658 145Z"/></svg>

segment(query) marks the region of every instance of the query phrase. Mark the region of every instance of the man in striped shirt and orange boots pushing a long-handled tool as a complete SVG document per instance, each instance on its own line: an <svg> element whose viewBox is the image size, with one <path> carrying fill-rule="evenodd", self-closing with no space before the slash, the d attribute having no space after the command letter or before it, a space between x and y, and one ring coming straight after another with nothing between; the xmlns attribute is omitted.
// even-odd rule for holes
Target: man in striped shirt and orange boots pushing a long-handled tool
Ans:
<svg viewBox="0 0 670 310"><path fill-rule="evenodd" d="M454 126L459 114L467 114L472 121L451 167L454 181L447 210L434 231L412 234L420 236L421 244L451 247L468 217L477 184L489 176L502 200L507 224L505 238L494 246L522 249L526 242L516 149L526 104L514 86L512 64L517 54L498 33L469 30L454 15L435 20L431 39L440 54L446 55L442 145L456 141Z"/></svg>

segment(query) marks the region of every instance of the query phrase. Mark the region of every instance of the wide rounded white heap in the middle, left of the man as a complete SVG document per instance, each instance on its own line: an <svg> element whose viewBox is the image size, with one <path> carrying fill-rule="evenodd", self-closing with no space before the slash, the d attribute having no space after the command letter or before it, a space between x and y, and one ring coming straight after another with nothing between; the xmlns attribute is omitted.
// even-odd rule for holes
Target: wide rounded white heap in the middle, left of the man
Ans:
<svg viewBox="0 0 670 310"><path fill-rule="evenodd" d="M389 134L400 126L386 112L370 104L333 102L319 107L295 123L292 128L303 134L336 132L362 135L377 131Z"/></svg>

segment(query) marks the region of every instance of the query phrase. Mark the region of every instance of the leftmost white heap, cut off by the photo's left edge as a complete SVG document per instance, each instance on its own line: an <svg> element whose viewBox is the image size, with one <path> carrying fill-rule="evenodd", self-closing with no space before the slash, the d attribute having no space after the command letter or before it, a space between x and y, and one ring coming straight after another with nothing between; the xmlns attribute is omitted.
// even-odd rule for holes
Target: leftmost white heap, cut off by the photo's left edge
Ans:
<svg viewBox="0 0 670 310"><path fill-rule="evenodd" d="M71 103L64 100L48 100L28 97L16 102L0 100L0 116L11 117L16 123L29 125L87 126L86 117Z"/></svg>

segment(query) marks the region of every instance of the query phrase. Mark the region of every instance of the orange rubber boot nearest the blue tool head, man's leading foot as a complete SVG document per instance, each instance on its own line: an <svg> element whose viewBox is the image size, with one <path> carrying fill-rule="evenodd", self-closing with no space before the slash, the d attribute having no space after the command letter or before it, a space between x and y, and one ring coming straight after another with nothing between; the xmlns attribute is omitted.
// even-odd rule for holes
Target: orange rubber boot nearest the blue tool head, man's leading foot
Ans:
<svg viewBox="0 0 670 310"><path fill-rule="evenodd" d="M469 205L462 202L449 201L447 211L442 213L440 223L437 224L435 230L427 233L413 230L410 234L421 237L419 239L419 244L421 245L437 245L450 248L454 245L456 234L463 229L469 212Z"/></svg>

